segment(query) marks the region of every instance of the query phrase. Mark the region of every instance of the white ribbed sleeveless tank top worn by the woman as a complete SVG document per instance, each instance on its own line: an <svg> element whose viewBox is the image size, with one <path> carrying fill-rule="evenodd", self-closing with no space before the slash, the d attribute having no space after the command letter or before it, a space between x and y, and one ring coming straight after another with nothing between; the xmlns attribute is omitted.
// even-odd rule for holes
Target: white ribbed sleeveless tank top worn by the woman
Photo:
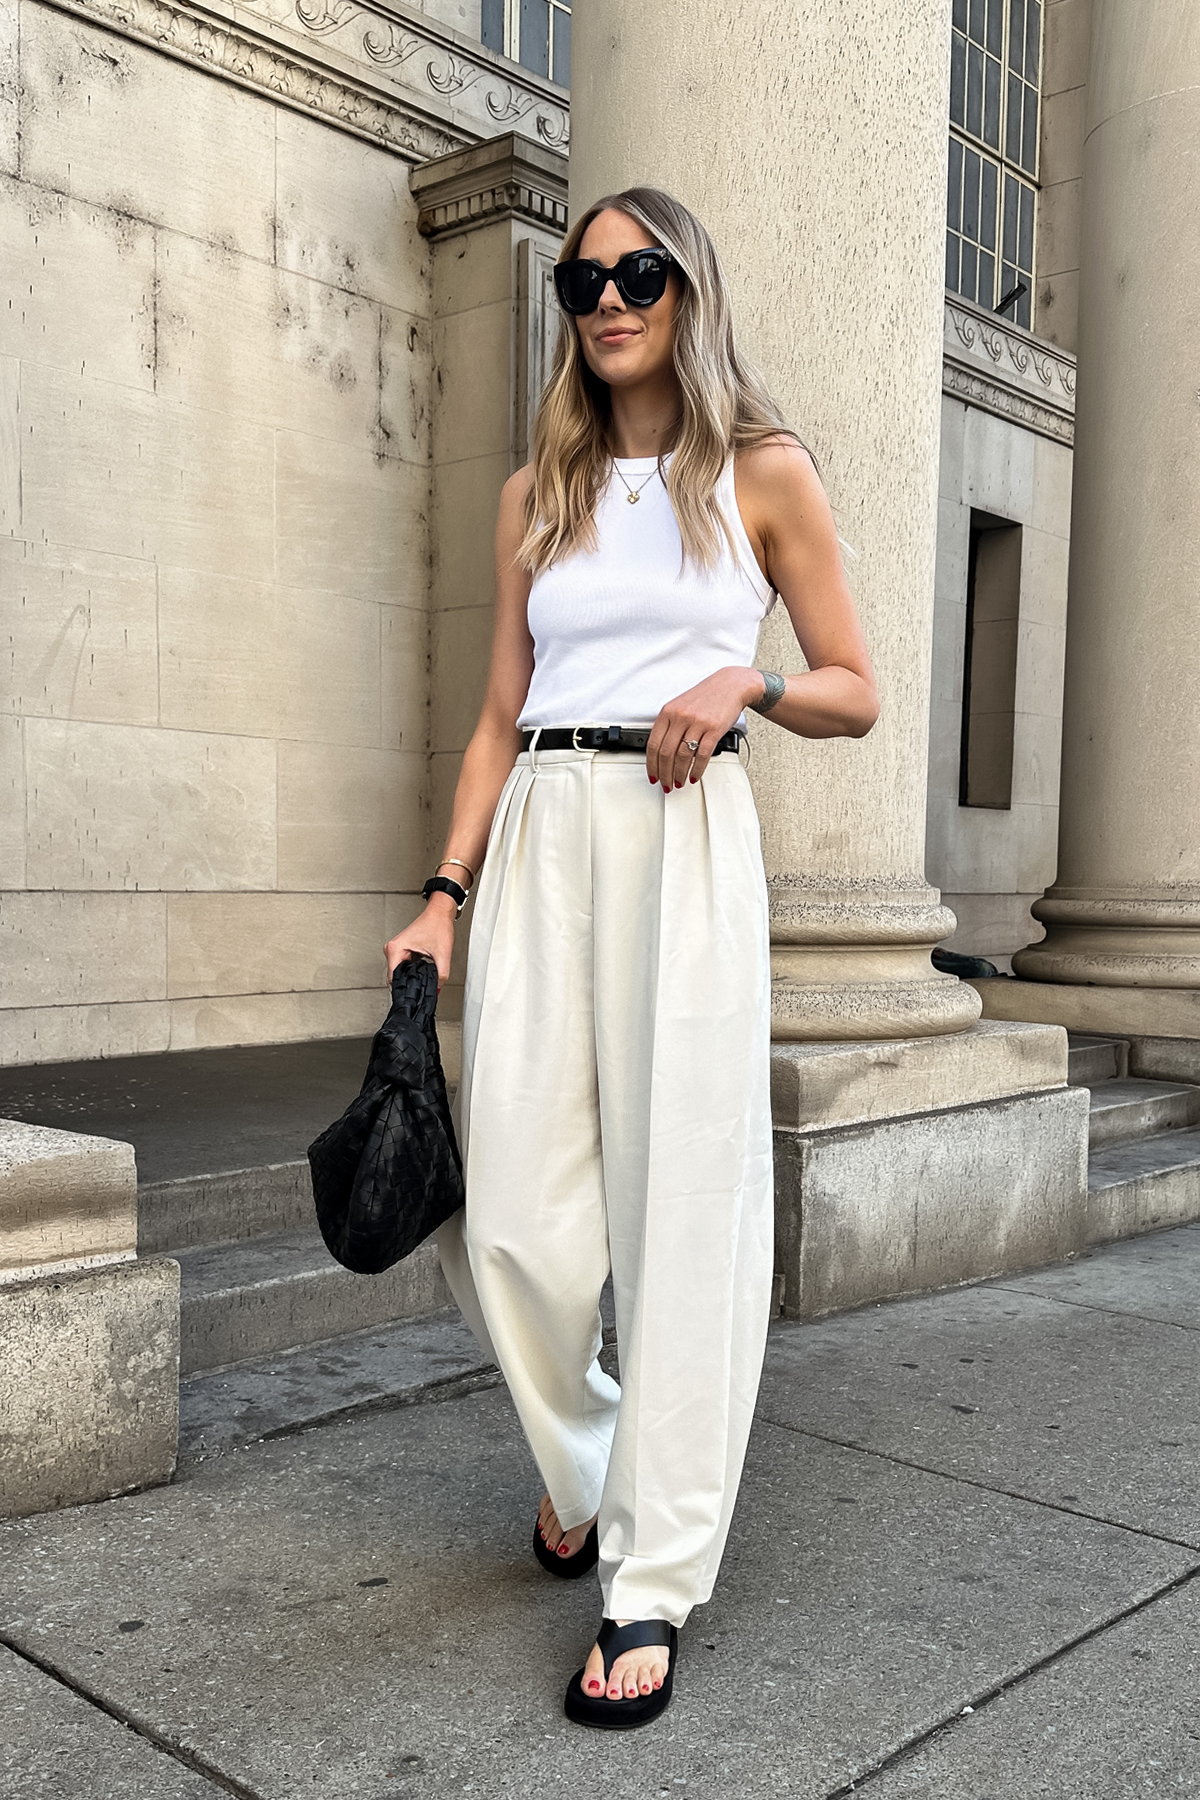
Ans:
<svg viewBox="0 0 1200 1800"><path fill-rule="evenodd" d="M640 490L637 506L617 468ZM738 513L732 459L716 499L738 554L721 533L711 569L684 563L657 468L655 457L621 457L596 508L597 547L534 576L534 668L520 727L653 725L667 700L705 675L754 668L775 594Z"/></svg>

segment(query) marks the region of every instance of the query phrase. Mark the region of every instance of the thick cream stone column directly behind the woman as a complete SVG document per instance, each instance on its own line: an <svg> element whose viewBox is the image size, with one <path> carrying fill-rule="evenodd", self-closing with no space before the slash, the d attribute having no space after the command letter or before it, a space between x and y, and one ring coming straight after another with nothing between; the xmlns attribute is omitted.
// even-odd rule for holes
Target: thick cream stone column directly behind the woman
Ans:
<svg viewBox="0 0 1200 1800"><path fill-rule="evenodd" d="M745 351L815 452L883 713L813 743L752 724L777 1039L907 1039L979 1013L925 880L948 0L590 0L574 20L572 216L648 182L716 238ZM801 664L783 607L766 666Z"/></svg>

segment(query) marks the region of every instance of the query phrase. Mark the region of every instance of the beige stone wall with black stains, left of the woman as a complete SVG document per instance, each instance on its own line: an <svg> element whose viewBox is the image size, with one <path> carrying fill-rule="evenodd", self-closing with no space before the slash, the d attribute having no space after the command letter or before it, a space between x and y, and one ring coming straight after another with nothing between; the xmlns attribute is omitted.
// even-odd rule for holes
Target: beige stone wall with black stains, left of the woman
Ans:
<svg viewBox="0 0 1200 1800"><path fill-rule="evenodd" d="M430 815L408 175L565 131L477 4L104 13L0 4L2 1062L378 1022Z"/></svg>

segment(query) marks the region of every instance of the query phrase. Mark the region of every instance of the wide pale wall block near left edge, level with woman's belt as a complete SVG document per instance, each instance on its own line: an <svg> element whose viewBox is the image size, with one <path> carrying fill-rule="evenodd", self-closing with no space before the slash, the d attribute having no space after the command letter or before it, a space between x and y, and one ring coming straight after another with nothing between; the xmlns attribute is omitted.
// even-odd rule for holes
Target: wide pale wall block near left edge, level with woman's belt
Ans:
<svg viewBox="0 0 1200 1800"><path fill-rule="evenodd" d="M31 718L25 758L36 887L275 880L273 743Z"/></svg>

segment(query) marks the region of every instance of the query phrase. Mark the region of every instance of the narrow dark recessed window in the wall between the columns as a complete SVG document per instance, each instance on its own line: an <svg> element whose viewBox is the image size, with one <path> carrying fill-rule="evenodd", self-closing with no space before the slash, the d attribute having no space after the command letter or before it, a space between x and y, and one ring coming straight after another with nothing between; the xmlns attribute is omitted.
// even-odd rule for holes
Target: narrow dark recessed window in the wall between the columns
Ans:
<svg viewBox="0 0 1200 1800"><path fill-rule="evenodd" d="M1013 805L1020 526L972 509L959 806Z"/></svg>

